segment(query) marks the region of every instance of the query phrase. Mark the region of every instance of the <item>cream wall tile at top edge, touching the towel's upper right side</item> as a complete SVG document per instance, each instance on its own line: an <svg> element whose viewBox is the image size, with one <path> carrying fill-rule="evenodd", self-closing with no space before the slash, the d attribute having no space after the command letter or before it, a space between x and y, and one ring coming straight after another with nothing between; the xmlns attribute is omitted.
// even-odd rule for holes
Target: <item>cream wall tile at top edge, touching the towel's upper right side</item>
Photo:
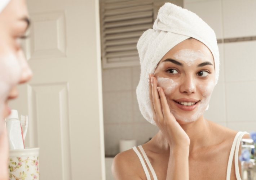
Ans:
<svg viewBox="0 0 256 180"><path fill-rule="evenodd" d="M202 18L215 31L217 39L222 38L221 0L186 3L185 7Z"/></svg>

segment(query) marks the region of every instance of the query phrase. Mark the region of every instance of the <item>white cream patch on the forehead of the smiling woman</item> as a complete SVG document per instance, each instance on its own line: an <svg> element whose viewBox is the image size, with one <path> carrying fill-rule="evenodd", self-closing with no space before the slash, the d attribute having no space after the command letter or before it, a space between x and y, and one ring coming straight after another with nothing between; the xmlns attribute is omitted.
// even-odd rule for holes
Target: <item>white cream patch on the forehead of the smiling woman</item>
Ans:
<svg viewBox="0 0 256 180"><path fill-rule="evenodd" d="M200 50L182 49L173 55L176 59L184 61L191 66L197 59L205 59L205 55Z"/></svg>

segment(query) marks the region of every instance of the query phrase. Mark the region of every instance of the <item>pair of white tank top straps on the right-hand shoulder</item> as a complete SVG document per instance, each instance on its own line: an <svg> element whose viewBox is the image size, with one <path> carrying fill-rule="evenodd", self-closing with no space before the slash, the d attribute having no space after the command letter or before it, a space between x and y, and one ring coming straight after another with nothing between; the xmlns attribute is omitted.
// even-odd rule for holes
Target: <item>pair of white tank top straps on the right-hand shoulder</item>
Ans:
<svg viewBox="0 0 256 180"><path fill-rule="evenodd" d="M229 161L228 161L228 169L227 169L227 178L226 180L230 180L230 174L231 174L231 167L232 167L232 161L235 153L235 176L237 177L237 180L241 180L240 172L239 172L239 163L238 163L238 153L239 153L239 145L240 141L243 137L243 135L248 134L248 132L241 132L239 131L234 138L230 154L229 154Z"/></svg>

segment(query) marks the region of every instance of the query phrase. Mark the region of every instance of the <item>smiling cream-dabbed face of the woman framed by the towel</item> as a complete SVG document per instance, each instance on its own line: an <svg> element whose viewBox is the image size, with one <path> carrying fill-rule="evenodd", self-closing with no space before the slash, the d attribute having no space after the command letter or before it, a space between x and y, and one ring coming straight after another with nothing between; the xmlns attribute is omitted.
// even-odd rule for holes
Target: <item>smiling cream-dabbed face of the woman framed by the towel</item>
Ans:
<svg viewBox="0 0 256 180"><path fill-rule="evenodd" d="M160 60L154 76L178 123L203 115L215 86L214 60L206 45L195 39L180 42Z"/></svg>

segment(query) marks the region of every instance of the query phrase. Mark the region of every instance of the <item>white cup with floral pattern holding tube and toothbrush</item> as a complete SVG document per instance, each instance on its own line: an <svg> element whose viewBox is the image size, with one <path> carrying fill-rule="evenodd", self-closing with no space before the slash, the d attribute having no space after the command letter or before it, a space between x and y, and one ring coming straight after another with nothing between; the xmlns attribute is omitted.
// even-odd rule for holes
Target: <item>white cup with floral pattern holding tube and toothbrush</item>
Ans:
<svg viewBox="0 0 256 180"><path fill-rule="evenodd" d="M39 180L39 148L9 151L9 180Z"/></svg>

